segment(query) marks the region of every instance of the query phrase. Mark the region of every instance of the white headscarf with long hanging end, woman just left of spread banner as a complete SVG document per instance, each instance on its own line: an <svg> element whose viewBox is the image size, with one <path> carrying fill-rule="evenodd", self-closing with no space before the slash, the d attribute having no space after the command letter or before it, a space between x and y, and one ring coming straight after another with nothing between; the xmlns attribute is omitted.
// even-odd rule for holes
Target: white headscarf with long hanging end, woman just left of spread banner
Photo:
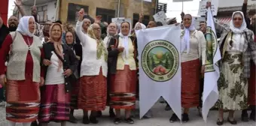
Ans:
<svg viewBox="0 0 256 126"><path fill-rule="evenodd" d="M128 23L128 22L123 22L123 23ZM122 25L123 23L121 23L121 25ZM120 26L121 26L121 25L120 25ZM129 23L129 25L130 25L130 23ZM120 27L120 28L121 28L121 27ZM128 33L127 36L124 36L121 31L120 31L120 33L119 33L120 38L123 40L123 48L124 48L124 51L123 51L123 59L129 57L129 36L130 36L130 34L131 34L131 31L132 31L132 27L131 27L131 25L130 25L130 31L129 31L129 33Z"/></svg>

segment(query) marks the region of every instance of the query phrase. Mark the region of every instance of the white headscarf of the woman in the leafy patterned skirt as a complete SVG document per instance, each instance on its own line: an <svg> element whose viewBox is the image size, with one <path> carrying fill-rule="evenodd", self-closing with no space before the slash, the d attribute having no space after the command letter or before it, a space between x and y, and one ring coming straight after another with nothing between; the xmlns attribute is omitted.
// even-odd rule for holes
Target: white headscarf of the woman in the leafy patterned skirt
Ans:
<svg viewBox="0 0 256 126"><path fill-rule="evenodd" d="M239 13L242 15L242 26L240 28L236 28L234 25L233 25L233 17L236 13ZM247 30L247 26L246 26L246 23L245 23L245 16L243 15L243 13L241 11L236 11L236 12L233 12L233 15L232 15L232 19L230 21L230 29L231 31L233 31L234 33L243 33L245 30Z"/></svg>

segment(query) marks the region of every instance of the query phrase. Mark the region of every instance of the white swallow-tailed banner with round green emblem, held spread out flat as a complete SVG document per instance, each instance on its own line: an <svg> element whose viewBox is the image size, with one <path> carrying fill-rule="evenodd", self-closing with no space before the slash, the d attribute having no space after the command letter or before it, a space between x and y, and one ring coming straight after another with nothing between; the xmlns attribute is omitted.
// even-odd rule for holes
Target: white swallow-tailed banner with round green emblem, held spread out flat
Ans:
<svg viewBox="0 0 256 126"><path fill-rule="evenodd" d="M181 118L181 26L136 31L139 53L140 118L160 96Z"/></svg>

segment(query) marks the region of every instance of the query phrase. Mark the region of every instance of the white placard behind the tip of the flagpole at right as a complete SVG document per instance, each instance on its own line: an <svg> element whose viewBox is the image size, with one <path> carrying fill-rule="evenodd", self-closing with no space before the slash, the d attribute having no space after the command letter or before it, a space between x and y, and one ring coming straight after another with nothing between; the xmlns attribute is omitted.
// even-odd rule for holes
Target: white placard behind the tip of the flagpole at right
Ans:
<svg viewBox="0 0 256 126"><path fill-rule="evenodd" d="M206 15L206 12L207 12L206 3L207 3L206 0L200 1L198 13L197 13L198 16L205 16ZM212 8L211 8L212 9L212 15L216 16L217 13L218 13L218 0L212 0L211 3L212 3Z"/></svg>

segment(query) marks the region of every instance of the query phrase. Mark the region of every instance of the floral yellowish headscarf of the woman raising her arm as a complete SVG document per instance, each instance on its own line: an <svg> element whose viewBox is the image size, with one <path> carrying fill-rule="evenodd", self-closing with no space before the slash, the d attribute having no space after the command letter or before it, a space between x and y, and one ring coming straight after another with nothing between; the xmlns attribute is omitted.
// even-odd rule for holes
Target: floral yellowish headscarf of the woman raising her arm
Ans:
<svg viewBox="0 0 256 126"><path fill-rule="evenodd" d="M104 56L105 62L108 61L108 51L106 49L106 47L104 46L103 40L102 38L96 38L94 32L93 32L93 24L90 25L90 27L87 29L87 34L92 37L93 39L95 39L98 43L97 46L97 59L100 59L102 57L102 55Z"/></svg>

